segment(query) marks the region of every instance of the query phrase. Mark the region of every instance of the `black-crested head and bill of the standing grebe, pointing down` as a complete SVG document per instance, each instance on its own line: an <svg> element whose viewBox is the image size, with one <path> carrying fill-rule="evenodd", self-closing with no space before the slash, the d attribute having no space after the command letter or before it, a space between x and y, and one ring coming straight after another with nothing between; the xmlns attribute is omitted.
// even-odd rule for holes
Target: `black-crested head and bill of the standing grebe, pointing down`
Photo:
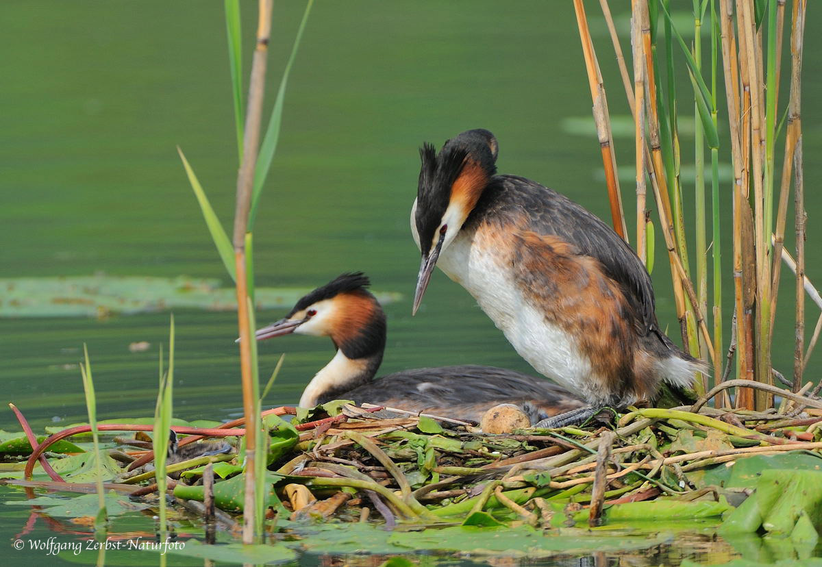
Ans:
<svg viewBox="0 0 822 567"><path fill-rule="evenodd" d="M437 258L454 241L496 173L496 138L483 129L464 131L446 141L439 154L432 144L423 145L419 154L422 165L412 223L423 261L412 313L423 300Z"/></svg>

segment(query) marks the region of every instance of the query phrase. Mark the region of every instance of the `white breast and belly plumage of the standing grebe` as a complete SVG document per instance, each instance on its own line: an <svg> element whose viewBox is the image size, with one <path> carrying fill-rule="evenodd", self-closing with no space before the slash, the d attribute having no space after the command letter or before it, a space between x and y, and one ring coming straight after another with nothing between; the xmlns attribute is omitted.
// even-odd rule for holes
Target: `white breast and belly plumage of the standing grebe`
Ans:
<svg viewBox="0 0 822 567"><path fill-rule="evenodd" d="M506 339L531 366L568 390L582 394L591 385L589 358L577 341L545 320L543 311L526 301L506 269L506 251L485 250L470 234L460 233L437 265L462 285L491 317Z"/></svg>

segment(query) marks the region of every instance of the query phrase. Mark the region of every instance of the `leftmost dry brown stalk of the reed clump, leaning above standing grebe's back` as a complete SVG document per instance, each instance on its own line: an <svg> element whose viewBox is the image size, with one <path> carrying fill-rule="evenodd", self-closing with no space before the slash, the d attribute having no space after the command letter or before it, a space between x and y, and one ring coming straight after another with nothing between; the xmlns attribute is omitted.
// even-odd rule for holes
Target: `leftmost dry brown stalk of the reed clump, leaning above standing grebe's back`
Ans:
<svg viewBox="0 0 822 567"><path fill-rule="evenodd" d="M599 71L596 53L593 51L593 42L588 30L588 20L585 17L585 7L582 0L574 0L576 22L580 29L582 53L585 58L585 68L588 71L588 83L593 100L593 121L597 125L599 146L603 153L603 167L608 187L608 201L611 204L611 218L614 230L628 242L628 230L625 224L625 213L622 211L622 196L617 177L617 158L614 155L613 136L611 133L611 118L608 115L607 99L603 76Z"/></svg>

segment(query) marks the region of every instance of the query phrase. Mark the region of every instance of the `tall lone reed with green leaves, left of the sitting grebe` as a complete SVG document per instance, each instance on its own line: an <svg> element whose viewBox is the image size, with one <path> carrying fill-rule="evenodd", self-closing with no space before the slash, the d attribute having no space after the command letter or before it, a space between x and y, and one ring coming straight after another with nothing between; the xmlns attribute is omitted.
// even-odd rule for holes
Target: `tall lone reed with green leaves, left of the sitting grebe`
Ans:
<svg viewBox="0 0 822 567"><path fill-rule="evenodd" d="M261 426L259 411L259 379L257 376L256 347L254 334L254 264L253 225L260 202L262 189L268 176L271 162L279 141L280 125L284 106L285 90L289 73L297 57L302 33L311 13L313 0L308 0L288 62L279 81L266 131L262 133L262 104L266 85L266 67L271 26L272 0L258 0L256 46L252 58L252 70L248 84L247 104L242 104L242 53L240 4L238 0L224 0L226 30L229 42L229 67L231 71L235 130L237 134L240 164L237 175L237 191L234 212L233 235L229 240L219 218L205 196L205 191L188 163L182 150L178 148L180 159L186 170L201 207L205 224L215 242L220 259L236 283L238 305L238 330L240 335L240 368L242 374L243 413L246 422L246 462L245 462L245 502L243 511L242 541L252 543L261 534L265 503L267 501L265 482L265 449L268 447ZM263 434L261 436L261 433Z"/></svg>

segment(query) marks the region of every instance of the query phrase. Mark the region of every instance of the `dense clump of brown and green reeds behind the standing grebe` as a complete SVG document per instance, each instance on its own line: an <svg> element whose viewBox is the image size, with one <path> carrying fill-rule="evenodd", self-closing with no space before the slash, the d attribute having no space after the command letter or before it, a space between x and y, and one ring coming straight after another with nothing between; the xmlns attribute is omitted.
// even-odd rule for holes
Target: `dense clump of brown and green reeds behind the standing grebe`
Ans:
<svg viewBox="0 0 822 567"><path fill-rule="evenodd" d="M799 90L806 0L793 2L789 34L783 25L783 0L692 0L694 41L690 45L682 39L672 18L670 11L675 5L670 0L631 2L634 84L630 85L610 7L607 0L600 0L617 53L617 65L628 104L635 118L637 234L640 236L642 233L640 216L647 214L644 187L649 180L659 224L663 228L661 233L668 248L677 316L686 347L695 356L707 355L713 362L714 381L721 380L721 353L727 346L723 340L723 279L729 277L734 288L734 332L728 359L736 353L737 377L755 378L770 384L773 382L771 348L779 258L786 256L782 253L782 247L792 164L797 164L793 191L797 210L794 219L797 256L804 256L806 215L801 183ZM656 24L658 18L662 20L661 25ZM704 77L708 67L703 64L702 35L705 25L709 25L710 31L708 79ZM640 34L647 34L641 44ZM780 196L778 209L774 211L778 76L783 36L789 36L792 51L791 100L787 105L788 126ZM664 52L658 45L664 47ZM593 52L593 46L588 51ZM588 53L584 52L587 62ZM682 66L686 68L693 87L695 180L692 187L688 187L680 175L683 156L677 107L681 93L677 93L674 77ZM665 70L664 81L660 69ZM719 136L720 73L725 82L729 127L729 134L723 139ZM733 182L730 191L723 190L719 179L719 151L723 145L730 149L732 156ZM710 152L710 223L707 220L706 149ZM692 201L684 198L690 191L693 191ZM733 261L732 271L728 273L723 270L720 238L723 195L728 195L732 202ZM694 204L695 213L695 226L690 231L684 223L686 203L689 201ZM615 226L621 222L624 221L617 219ZM695 242L695 274L690 271L687 244L690 239ZM646 256L643 252L645 242L637 243L637 252L643 259ZM708 261L709 251L711 262ZM806 366L808 354L803 353L803 305L808 284L804 278L803 259L798 257L797 274L794 388L801 384L801 371ZM713 282L710 296L709 281ZM705 325L706 319L713 323L711 331ZM822 317L817 327L822 328ZM701 390L701 380L697 380L697 385ZM764 391L754 394L750 389L740 389L737 406L763 409L772 403L771 396Z"/></svg>

